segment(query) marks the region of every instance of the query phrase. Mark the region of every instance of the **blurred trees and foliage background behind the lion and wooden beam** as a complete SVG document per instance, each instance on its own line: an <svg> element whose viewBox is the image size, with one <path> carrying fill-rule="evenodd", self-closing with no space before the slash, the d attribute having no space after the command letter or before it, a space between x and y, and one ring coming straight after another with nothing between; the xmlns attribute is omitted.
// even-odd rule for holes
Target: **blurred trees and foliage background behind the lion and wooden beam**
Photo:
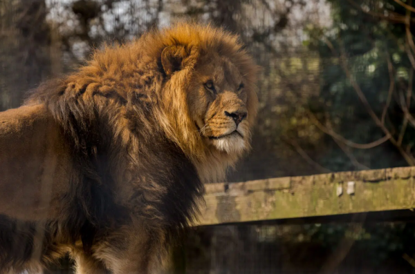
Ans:
<svg viewBox="0 0 415 274"><path fill-rule="evenodd" d="M241 35L263 68L252 153L230 182L413 166L414 12L412 0L0 0L0 110L102 43L192 18ZM183 267L415 273L414 232L412 223L199 228Z"/></svg>

